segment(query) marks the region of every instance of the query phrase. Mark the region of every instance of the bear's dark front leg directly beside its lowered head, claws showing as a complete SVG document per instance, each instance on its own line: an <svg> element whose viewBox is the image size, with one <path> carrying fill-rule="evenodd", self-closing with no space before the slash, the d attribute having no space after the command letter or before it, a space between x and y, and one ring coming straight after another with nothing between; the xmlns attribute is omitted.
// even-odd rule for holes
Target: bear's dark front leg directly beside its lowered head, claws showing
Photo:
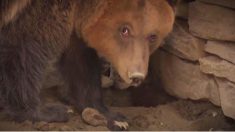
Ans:
<svg viewBox="0 0 235 132"><path fill-rule="evenodd" d="M86 43L73 35L70 46L61 58L60 70L69 85L72 103L80 113L88 113L88 116L89 113L90 116L95 112L101 113L109 129L127 129L125 117L110 112L103 104L101 62L94 49L87 47ZM89 124L94 125L91 122Z"/></svg>

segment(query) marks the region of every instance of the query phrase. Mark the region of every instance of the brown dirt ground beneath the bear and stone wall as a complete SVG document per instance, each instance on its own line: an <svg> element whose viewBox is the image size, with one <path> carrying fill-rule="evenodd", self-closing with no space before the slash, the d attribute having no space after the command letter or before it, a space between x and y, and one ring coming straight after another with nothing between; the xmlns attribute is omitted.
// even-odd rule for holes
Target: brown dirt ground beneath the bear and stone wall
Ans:
<svg viewBox="0 0 235 132"><path fill-rule="evenodd" d="M149 88L149 87L148 87ZM120 91L104 90L104 100L110 109L124 114L129 130L235 130L235 122L226 118L221 108L206 101L179 100L162 90L151 91L144 86L139 89ZM45 102L58 101L51 94L55 88L43 92ZM145 91L145 92L143 92ZM147 92L151 91L151 92ZM68 106L70 107L70 106ZM66 123L16 123L0 113L0 130L108 130L105 126L90 126L77 112L70 114Z"/></svg>

